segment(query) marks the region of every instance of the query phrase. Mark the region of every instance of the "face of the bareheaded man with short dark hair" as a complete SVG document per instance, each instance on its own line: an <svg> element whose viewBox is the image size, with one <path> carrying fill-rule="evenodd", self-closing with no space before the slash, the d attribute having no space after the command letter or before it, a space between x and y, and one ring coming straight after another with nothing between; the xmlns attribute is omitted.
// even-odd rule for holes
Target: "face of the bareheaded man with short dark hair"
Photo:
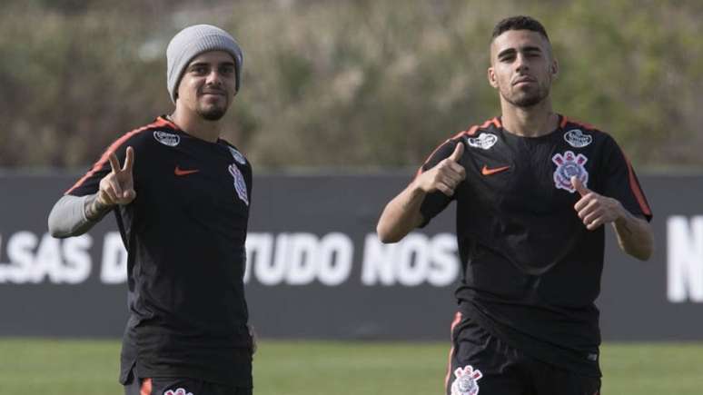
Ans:
<svg viewBox="0 0 703 395"><path fill-rule="evenodd" d="M490 85L517 107L531 107L546 99L557 71L550 43L537 32L509 30L490 44Z"/></svg>

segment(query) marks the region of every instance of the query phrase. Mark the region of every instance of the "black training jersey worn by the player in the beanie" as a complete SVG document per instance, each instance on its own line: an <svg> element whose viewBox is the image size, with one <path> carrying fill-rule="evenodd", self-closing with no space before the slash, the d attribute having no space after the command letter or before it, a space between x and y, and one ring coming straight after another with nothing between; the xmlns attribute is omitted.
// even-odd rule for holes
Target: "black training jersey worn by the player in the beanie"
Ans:
<svg viewBox="0 0 703 395"><path fill-rule="evenodd" d="M121 380L136 364L141 377L251 387L243 289L250 164L233 145L159 117L115 141L67 193L96 193L109 153L124 163L128 146L136 198L114 210L128 252Z"/></svg>

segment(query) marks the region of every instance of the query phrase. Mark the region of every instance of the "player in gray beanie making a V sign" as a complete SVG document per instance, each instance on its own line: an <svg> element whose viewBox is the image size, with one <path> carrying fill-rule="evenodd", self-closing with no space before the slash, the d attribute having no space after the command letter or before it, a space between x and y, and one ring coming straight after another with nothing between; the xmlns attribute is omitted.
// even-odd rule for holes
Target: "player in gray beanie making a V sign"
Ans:
<svg viewBox="0 0 703 395"><path fill-rule="evenodd" d="M166 49L173 114L124 134L56 204L56 237L114 212L128 252L127 395L252 393L244 300L252 168L220 138L243 54L233 37L193 25Z"/></svg>

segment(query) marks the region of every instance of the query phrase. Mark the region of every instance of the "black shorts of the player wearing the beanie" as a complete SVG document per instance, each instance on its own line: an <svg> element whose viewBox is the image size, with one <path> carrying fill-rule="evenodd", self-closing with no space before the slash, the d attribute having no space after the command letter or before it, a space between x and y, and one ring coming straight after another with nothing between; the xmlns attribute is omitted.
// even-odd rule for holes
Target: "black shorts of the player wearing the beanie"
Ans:
<svg viewBox="0 0 703 395"><path fill-rule="evenodd" d="M140 378L135 373L133 368L124 384L124 395L252 395L251 387L231 387L188 378Z"/></svg>

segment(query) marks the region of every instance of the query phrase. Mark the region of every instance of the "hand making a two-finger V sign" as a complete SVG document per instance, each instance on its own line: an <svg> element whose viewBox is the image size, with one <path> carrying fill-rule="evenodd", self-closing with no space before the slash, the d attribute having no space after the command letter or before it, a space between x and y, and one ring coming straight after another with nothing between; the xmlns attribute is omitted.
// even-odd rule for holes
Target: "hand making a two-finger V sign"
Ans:
<svg viewBox="0 0 703 395"><path fill-rule="evenodd" d="M132 167L134 166L134 149L127 147L127 157L124 159L124 166L120 167L117 155L110 153L108 157L112 171L100 180L100 189L85 207L85 216L94 220L100 218L104 212L109 211L116 204L129 204L134 201L134 178L132 177Z"/></svg>

